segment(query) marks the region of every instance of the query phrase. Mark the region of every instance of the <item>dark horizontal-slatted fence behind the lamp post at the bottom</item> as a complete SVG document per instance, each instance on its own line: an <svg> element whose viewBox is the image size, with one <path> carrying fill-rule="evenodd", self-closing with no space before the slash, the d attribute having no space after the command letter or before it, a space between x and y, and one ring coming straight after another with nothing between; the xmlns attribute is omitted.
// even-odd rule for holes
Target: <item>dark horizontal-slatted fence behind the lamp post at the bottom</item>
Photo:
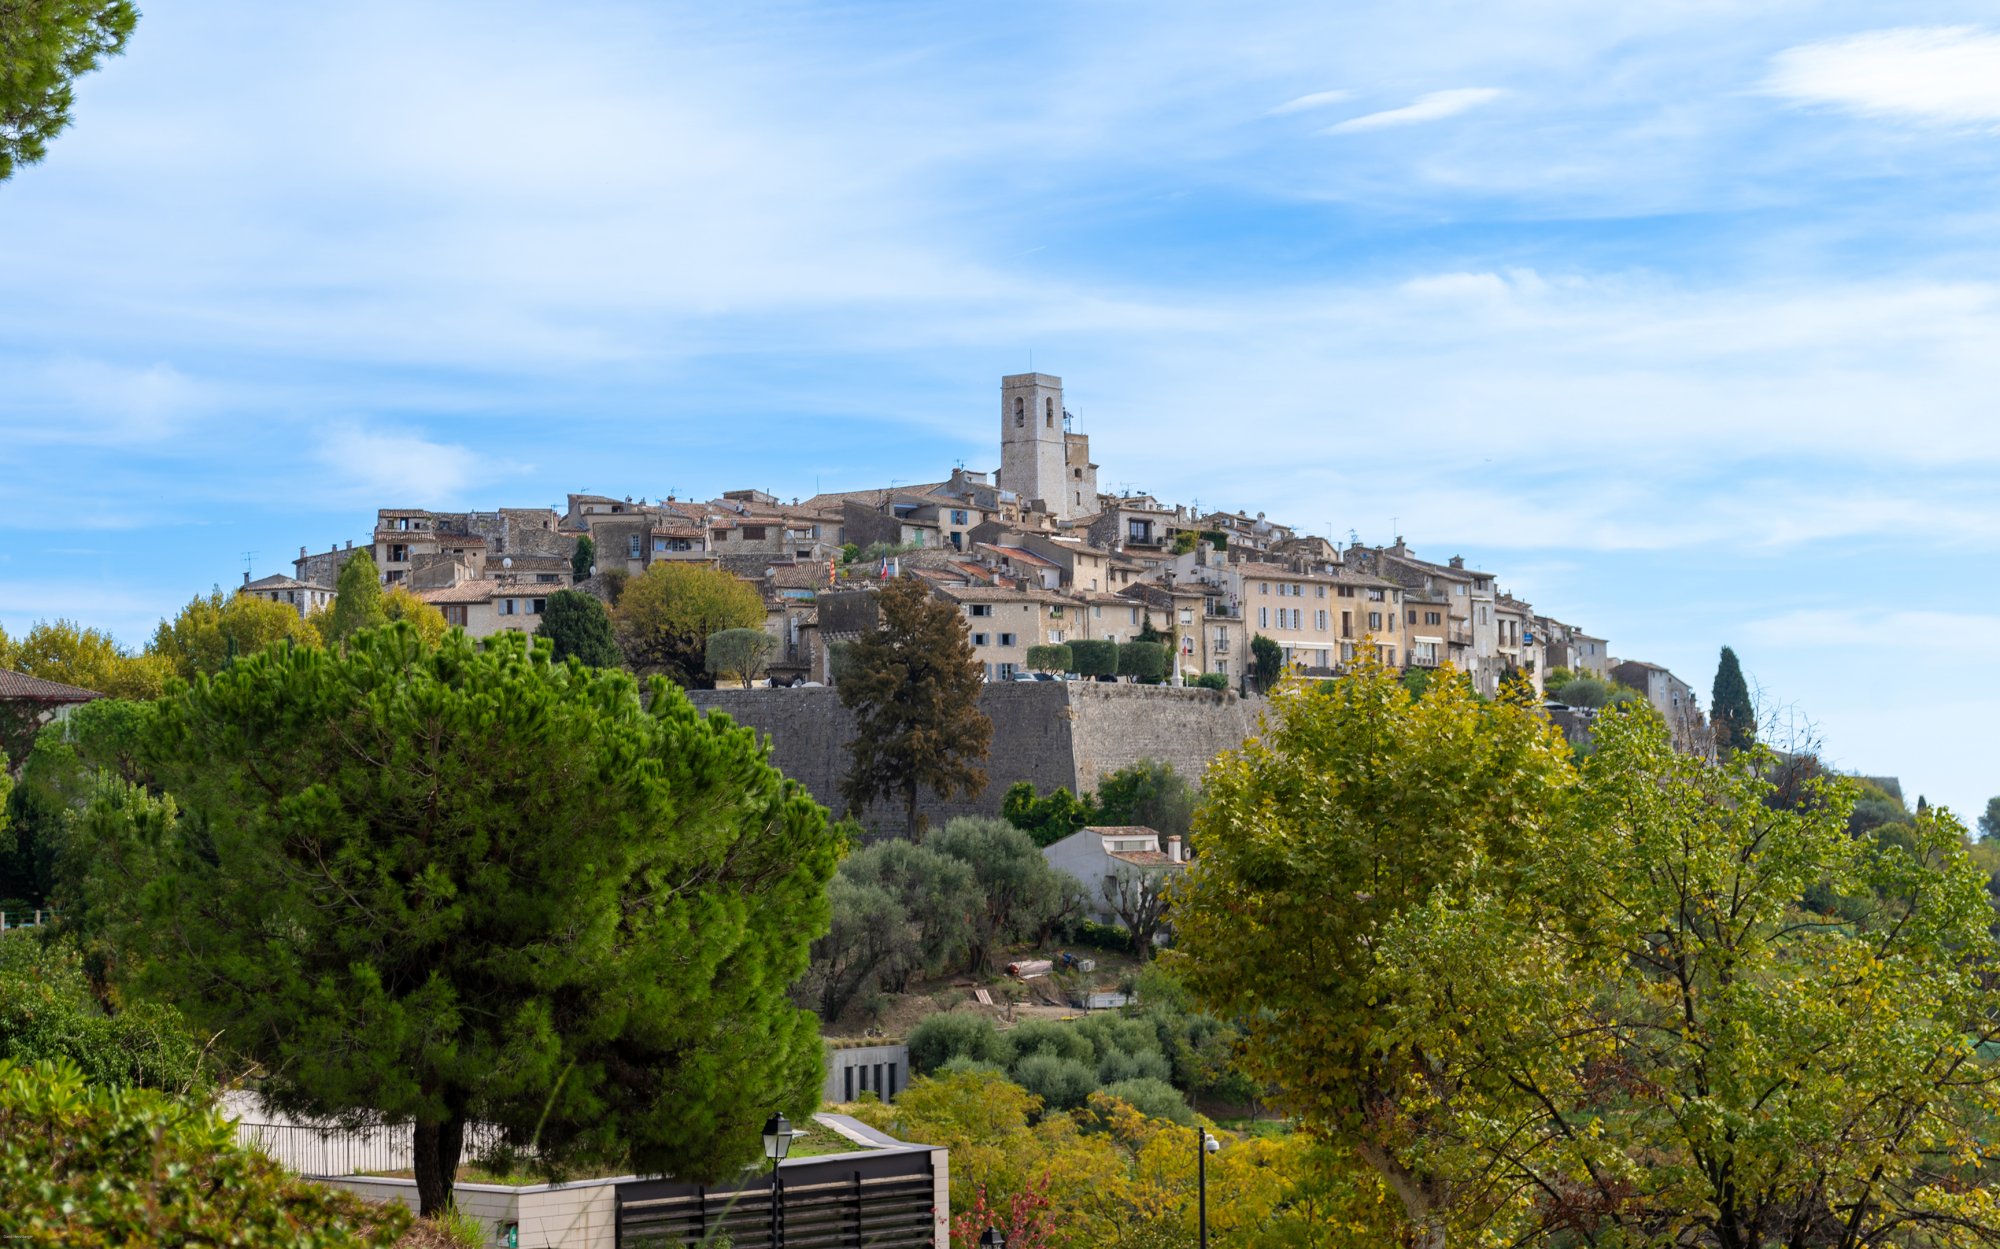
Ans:
<svg viewBox="0 0 2000 1249"><path fill-rule="evenodd" d="M770 1177L730 1185L640 1179L618 1185L618 1249L776 1249ZM784 1163L786 1249L920 1249L936 1243L928 1149Z"/></svg>

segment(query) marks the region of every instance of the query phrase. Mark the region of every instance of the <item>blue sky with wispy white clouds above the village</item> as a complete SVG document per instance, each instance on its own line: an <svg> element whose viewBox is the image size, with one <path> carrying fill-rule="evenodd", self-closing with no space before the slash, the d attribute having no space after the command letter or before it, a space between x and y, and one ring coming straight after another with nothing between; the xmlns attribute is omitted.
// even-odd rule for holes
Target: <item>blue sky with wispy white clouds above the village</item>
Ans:
<svg viewBox="0 0 2000 1249"><path fill-rule="evenodd" d="M1466 554L2000 793L1972 4L160 4L0 184L0 625L376 506L1108 486Z"/></svg>

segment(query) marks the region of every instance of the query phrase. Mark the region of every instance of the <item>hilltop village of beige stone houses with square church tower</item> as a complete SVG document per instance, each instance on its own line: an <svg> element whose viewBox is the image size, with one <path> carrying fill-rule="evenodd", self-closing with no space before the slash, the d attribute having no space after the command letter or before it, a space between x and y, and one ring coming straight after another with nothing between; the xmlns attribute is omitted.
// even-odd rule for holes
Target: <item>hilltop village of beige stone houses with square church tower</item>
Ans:
<svg viewBox="0 0 2000 1249"><path fill-rule="evenodd" d="M592 542L588 576L574 566ZM614 600L624 578L662 560L720 566L754 584L774 639L770 681L830 681L830 645L872 627L856 610L884 576L920 576L966 616L988 681L1028 675L1030 651L1090 641L1172 639L1168 685L1198 675L1254 691L1252 639L1282 667L1338 677L1372 651L1396 669L1450 665L1484 695L1508 675L1554 671L1640 691L1676 737L1704 739L1694 691L1666 669L1614 659L1610 643L1500 588L1464 558L1338 546L1264 512L1202 512L1098 488L1090 436L1062 404L1062 378L1000 378L1000 468L944 480L784 500L570 494L568 506L438 512L384 506L358 544L300 548L290 576L244 578L242 592L296 604L334 596L340 566L370 550L388 586L438 606L472 637L534 631L546 596L576 588ZM1210 677L1214 685L1214 677Z"/></svg>

